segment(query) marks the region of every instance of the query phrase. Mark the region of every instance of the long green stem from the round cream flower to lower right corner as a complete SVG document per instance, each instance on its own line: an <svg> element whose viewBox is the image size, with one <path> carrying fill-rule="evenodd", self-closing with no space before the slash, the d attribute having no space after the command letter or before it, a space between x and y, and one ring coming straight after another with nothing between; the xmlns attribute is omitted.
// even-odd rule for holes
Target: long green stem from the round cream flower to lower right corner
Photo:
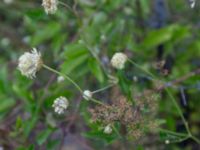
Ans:
<svg viewBox="0 0 200 150"><path fill-rule="evenodd" d="M135 67L137 67L138 69L142 70L143 72L145 72L146 74L150 75L154 80L156 79L156 77L154 76L154 74L152 74L151 72L145 70L144 68L140 67L140 65L138 65L137 63L135 63L134 61L132 61L131 59L128 59L128 61L133 64ZM163 82L163 81L162 81ZM196 141L197 143L200 144L200 140L196 137L194 137L190 131L190 128L189 128L189 125L188 125L188 122L186 121L185 117L183 116L183 113L181 111L181 108L179 107L178 103L176 102L176 99L174 98L174 96L171 94L170 90L168 88L164 88L164 90L167 92L167 94L169 95L170 99L172 100L174 106L176 107L183 123L184 123L184 126L186 128L186 131L188 133L187 137L193 139L194 141Z"/></svg>

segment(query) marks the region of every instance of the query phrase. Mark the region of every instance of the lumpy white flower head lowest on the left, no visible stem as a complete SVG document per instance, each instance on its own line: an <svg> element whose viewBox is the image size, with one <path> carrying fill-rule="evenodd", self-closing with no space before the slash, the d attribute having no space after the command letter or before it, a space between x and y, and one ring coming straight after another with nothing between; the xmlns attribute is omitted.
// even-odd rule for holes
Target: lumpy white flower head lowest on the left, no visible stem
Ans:
<svg viewBox="0 0 200 150"><path fill-rule="evenodd" d="M58 114L63 114L64 111L68 108L69 101L67 98L60 96L54 100L54 103L52 107L54 108L54 111Z"/></svg>

